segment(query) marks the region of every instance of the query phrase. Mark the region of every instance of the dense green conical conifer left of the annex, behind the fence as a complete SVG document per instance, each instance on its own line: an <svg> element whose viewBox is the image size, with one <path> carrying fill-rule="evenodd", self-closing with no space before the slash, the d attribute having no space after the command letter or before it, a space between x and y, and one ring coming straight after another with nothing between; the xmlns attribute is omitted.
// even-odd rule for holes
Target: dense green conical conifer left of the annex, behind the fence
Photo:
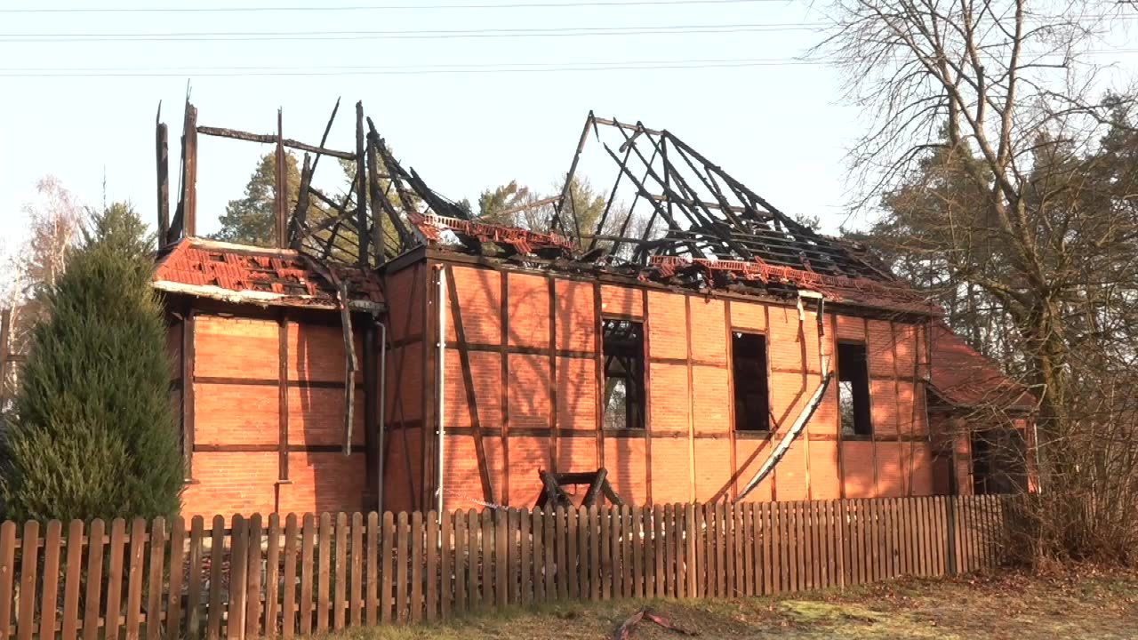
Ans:
<svg viewBox="0 0 1138 640"><path fill-rule="evenodd" d="M126 205L92 216L46 295L0 443L13 519L172 516L183 479L152 238Z"/></svg>

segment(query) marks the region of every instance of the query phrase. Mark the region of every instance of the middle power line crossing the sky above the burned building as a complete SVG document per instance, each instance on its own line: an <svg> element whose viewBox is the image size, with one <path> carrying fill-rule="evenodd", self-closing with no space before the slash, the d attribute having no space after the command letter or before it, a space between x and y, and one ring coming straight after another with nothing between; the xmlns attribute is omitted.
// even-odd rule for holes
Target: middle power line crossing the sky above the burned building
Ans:
<svg viewBox="0 0 1138 640"><path fill-rule="evenodd" d="M262 40L411 40L470 38L563 38L594 35L654 35L686 33L744 33L808 31L826 23L758 23L665 26L602 26L550 28L471 28L430 31L265 31L265 32L170 32L170 33L0 33L0 42L214 42Z"/></svg>

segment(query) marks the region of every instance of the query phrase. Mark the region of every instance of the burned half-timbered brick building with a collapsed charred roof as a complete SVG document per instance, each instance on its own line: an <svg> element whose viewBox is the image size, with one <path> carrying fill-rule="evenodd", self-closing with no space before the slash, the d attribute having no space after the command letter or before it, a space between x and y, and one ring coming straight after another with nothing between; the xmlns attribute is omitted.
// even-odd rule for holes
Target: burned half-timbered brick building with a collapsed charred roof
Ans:
<svg viewBox="0 0 1138 640"><path fill-rule="evenodd" d="M327 131L313 146L199 126L187 105L171 220L158 128L155 286L188 512L528 507L554 489L582 499L539 471L599 469L611 495L644 504L1026 482L1024 389L868 252L673 133L589 114L566 190L531 203L550 214L527 229L431 190L361 105L356 130L340 151ZM195 237L199 134L305 151L277 247ZM584 221L569 184L589 140L615 184ZM341 198L313 186L323 156L355 163ZM335 213L312 219L314 199ZM1024 456L976 444L993 430Z"/></svg>

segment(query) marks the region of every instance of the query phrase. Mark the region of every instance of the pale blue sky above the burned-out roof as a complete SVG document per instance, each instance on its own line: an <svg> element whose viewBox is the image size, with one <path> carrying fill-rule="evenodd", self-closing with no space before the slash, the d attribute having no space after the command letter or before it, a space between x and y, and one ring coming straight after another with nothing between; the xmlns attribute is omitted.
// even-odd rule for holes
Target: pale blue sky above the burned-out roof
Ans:
<svg viewBox="0 0 1138 640"><path fill-rule="evenodd" d="M319 3L234 0L233 5ZM328 0L328 5L421 3ZM0 8L84 6L208 9L224 5L6 0ZM568 167L588 109L642 120L684 138L783 211L819 215L824 227L833 230L846 216L843 154L863 123L855 108L841 104L841 79L828 66L701 63L694 68L518 73L486 73L483 66L475 73L422 73L431 65L527 65L533 69L633 61L649 63L643 66L674 66L681 60L791 61L820 40L823 32L814 25L824 20L820 9L782 0L445 10L417 6L360 11L5 13L0 15L0 237L11 243L19 236L24 227L20 205L34 198L36 180L47 174L58 177L90 205L101 203L105 183L108 200L130 200L152 221L155 110L162 100L163 120L171 126L171 171L176 184L187 81L199 108L199 124L267 133L274 128L277 108L282 107L286 136L313 142L340 96L344 102L329 146L343 149L354 148L353 105L363 100L404 163L455 199L475 199L481 189L510 180L549 188ZM699 25L791 26L603 36L28 41L28 34L382 31L406 35L447 30ZM24 41L10 41L13 35ZM347 69L340 68L339 75L249 75L299 67L327 73L337 71L329 67L351 66L390 67L387 71L395 73L343 73ZM89 69L126 75L91 76L96 72ZM15 76L20 73L28 76ZM203 138L200 147L199 232L208 233L216 230L226 200L241 195L258 155L269 147L213 138ZM609 174L604 173L603 181Z"/></svg>

